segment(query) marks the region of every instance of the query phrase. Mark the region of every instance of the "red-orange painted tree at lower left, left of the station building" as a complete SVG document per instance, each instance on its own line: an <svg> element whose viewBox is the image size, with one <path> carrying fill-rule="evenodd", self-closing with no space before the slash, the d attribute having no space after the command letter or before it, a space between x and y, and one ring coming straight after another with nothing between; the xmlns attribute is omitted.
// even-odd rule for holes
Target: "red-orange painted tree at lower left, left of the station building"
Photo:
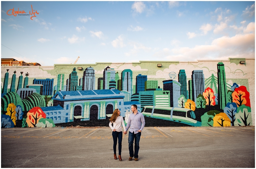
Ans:
<svg viewBox="0 0 256 169"><path fill-rule="evenodd" d="M27 113L27 120L29 127L36 127L36 124L39 122L40 118L46 118L46 114L40 107L33 107Z"/></svg>

